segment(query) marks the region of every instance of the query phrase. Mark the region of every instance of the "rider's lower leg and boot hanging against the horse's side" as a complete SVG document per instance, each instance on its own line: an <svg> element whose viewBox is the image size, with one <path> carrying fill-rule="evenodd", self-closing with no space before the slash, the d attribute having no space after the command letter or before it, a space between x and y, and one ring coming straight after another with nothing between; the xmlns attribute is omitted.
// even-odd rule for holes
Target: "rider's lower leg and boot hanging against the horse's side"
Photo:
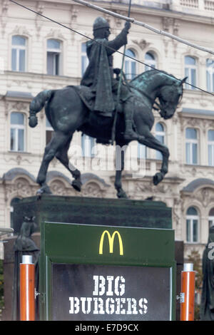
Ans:
<svg viewBox="0 0 214 335"><path fill-rule="evenodd" d="M133 130L133 105L131 103L125 103L124 117L125 133L123 134L123 137L125 138L125 140L140 140L142 136L138 135Z"/></svg>

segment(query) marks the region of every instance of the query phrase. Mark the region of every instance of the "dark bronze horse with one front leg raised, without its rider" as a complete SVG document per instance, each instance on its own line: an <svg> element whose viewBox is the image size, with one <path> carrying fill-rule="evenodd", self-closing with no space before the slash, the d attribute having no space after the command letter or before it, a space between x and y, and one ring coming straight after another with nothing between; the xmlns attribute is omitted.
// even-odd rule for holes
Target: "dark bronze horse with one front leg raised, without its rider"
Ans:
<svg viewBox="0 0 214 335"><path fill-rule="evenodd" d="M153 108L158 106L161 117L165 120L172 118L180 99L183 96L183 83L186 78L179 80L165 71L146 71L134 78L129 86L133 93L133 128L139 135L139 143L148 148L158 150L163 155L160 172L153 176L154 185L158 185L168 172L168 148L160 143L152 134L154 123ZM81 89L81 87L79 87ZM103 97L104 98L104 97ZM158 98L159 103L156 102ZM71 166L68 161L68 148L73 133L78 130L93 138L109 143L113 118L98 117L91 113L80 98L75 87L67 86L59 90L40 92L30 104L29 125L37 125L36 113L45 106L46 117L54 128L54 136L46 145L36 182L41 186L39 193L50 193L46 185L46 173L49 163L56 157L71 172L72 186L81 191L81 172ZM124 140L123 113L118 113L116 123L116 145L123 148L130 141ZM121 172L124 168L124 152L121 151L121 169L116 170L115 188L118 197L127 197L121 184Z"/></svg>

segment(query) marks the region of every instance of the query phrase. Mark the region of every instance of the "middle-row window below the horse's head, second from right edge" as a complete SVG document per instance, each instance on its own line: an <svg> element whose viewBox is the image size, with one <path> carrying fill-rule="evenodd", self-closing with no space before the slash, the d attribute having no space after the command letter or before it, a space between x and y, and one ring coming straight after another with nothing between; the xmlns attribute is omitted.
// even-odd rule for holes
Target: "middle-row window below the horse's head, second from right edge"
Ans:
<svg viewBox="0 0 214 335"><path fill-rule="evenodd" d="M198 164L198 132L195 128L185 130L185 163Z"/></svg>

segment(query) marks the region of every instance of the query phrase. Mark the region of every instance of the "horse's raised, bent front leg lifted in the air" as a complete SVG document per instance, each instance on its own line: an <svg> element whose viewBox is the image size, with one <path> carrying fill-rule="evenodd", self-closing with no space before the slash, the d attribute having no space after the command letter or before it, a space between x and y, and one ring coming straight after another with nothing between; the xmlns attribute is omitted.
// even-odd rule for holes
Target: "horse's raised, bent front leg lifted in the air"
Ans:
<svg viewBox="0 0 214 335"><path fill-rule="evenodd" d="M143 134L144 135L144 134ZM162 165L160 172L157 172L156 175L153 176L153 184L158 185L161 180L165 177L168 172L168 158L169 158L169 150L168 148L159 142L151 133L148 133L145 136L145 139L139 141L141 144L146 145L148 148L152 148L158 150L163 155Z"/></svg>

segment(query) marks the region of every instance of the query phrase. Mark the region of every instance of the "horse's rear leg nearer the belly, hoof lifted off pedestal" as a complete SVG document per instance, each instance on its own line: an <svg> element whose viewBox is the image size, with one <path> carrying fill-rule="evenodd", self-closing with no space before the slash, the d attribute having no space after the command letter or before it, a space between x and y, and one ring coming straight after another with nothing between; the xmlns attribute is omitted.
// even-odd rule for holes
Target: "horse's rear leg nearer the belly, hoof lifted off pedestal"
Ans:
<svg viewBox="0 0 214 335"><path fill-rule="evenodd" d="M73 134L68 139L68 142L66 145L56 153L56 158L64 165L64 167L71 172L71 175L73 176L74 180L72 181L71 185L75 190L78 192L81 192L81 172L76 169L71 163L69 163L68 160L68 149L72 140Z"/></svg>

